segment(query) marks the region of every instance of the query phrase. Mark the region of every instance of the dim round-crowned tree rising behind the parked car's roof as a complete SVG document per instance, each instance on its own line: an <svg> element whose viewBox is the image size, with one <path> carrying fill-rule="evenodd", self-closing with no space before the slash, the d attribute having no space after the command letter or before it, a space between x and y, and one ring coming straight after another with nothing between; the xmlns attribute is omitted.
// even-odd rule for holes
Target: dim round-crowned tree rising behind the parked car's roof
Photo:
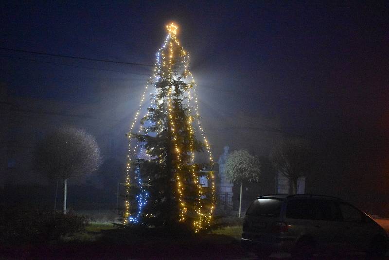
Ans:
<svg viewBox="0 0 389 260"><path fill-rule="evenodd" d="M298 179L312 168L312 152L307 141L287 139L276 145L271 153L275 169L288 180L292 194L298 190Z"/></svg>

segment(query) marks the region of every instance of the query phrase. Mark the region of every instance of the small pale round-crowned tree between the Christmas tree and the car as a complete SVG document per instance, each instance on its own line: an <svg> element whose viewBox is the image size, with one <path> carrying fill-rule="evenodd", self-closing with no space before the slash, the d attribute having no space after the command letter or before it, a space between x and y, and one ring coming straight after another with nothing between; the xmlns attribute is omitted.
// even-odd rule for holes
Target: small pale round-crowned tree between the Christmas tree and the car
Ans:
<svg viewBox="0 0 389 260"><path fill-rule="evenodd" d="M257 157L246 150L233 151L226 161L226 176L230 181L240 182L239 218L242 208L242 186L244 181L258 181L261 174Z"/></svg>

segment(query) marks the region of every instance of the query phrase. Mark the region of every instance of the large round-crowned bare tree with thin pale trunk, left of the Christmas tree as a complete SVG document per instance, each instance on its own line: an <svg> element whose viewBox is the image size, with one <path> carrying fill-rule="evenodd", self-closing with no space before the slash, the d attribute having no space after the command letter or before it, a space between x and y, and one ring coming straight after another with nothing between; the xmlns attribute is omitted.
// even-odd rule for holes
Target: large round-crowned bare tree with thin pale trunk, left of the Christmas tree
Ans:
<svg viewBox="0 0 389 260"><path fill-rule="evenodd" d="M35 169L49 178L63 179L64 213L68 179L91 173L100 164L100 149L96 140L81 129L62 127L36 145Z"/></svg>

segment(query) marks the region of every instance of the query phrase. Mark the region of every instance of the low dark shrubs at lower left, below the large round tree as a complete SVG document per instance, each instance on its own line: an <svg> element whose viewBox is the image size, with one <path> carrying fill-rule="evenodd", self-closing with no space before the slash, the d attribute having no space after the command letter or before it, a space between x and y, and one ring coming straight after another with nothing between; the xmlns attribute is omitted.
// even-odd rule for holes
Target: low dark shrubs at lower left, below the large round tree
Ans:
<svg viewBox="0 0 389 260"><path fill-rule="evenodd" d="M43 243L84 230L88 221L71 212L1 208L0 242L4 244Z"/></svg>

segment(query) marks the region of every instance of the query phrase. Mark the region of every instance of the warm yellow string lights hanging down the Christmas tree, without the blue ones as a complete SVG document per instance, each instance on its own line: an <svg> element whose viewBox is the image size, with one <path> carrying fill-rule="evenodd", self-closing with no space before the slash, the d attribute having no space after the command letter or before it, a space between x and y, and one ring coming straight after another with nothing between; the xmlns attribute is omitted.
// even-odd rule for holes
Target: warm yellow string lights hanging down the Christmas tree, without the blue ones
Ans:
<svg viewBox="0 0 389 260"><path fill-rule="evenodd" d="M161 69L159 68L166 68L167 67L167 70L168 70L168 78L169 78L169 89L168 89L168 95L167 95L167 99L166 99L166 102L167 102L167 116L168 116L168 119L169 119L169 125L168 127L171 129L171 132L172 132L172 140L173 140L173 148L174 148L174 151L175 151L175 154L176 154L176 163L177 165L175 165L176 167L176 183L177 183L177 197L178 197L178 206L180 208L179 210L179 221L184 221L185 220L185 214L187 212L187 208L185 208L185 202L184 202L184 195L183 195L183 189L184 189L184 183L181 181L181 174L182 174L182 170L181 170L181 165L183 163L183 160L181 158L181 156L184 156L183 152L184 151L183 149L180 149L180 147L178 146L178 143L177 143L177 131L176 131L176 121L175 121L175 116L174 116L174 111L173 109L175 108L173 106L173 103L172 103L172 95L173 95L173 84L172 84L172 79L175 79L175 76L176 76L176 72L174 73L173 71L173 67L174 65L176 64L176 61L175 61L175 52L174 52L174 44L176 44L177 46L179 46L179 42L177 40L177 31L178 31L178 27L177 25L175 25L174 23L171 23L169 25L166 26L167 28L167 32L168 32L168 36L164 42L164 45L162 48L159 49L159 52L158 52L158 58L157 58L157 63L155 65L155 69L154 69L154 79L155 79L155 82L158 82L158 79L159 79L159 76L160 77L165 77L165 73L164 71L162 71ZM202 191L202 186L201 184L199 183L199 180L198 180L198 176L196 175L195 173L195 152L194 152L194 138L195 138L195 130L194 130L194 127L192 126L192 124L194 123L194 120L193 120L193 117L192 116L189 116L188 117L188 121L186 122L187 124L187 128L189 129L189 141L190 141L190 146L189 146L189 155L190 155L190 163L191 163L191 167L190 167L190 171L192 173L192 177L193 177L193 182L195 183L195 186L197 187L198 189L198 193L197 193L197 200L195 201L195 212L197 214L197 220L194 221L193 225L194 225L194 228L195 228L195 232L198 232L200 229L204 228L204 224L205 225L209 225L210 222L211 222L211 219L212 219L212 215L213 215L213 208L214 208L214 202L215 202L215 184L214 184L214 174L213 174L213 159L212 159L212 153L211 153L211 149L210 149L210 145L208 143L208 140L206 139L205 135L204 135L204 131L203 131L203 128L201 126L201 123L200 123L200 120L199 120L199 112L198 112L198 104L197 104L197 96L196 96L196 84L195 84L195 80L193 78L193 75L191 74L191 72L189 71L189 61L190 61L190 57L189 57L189 53L185 52L183 50L182 47L179 47L180 48L180 56L183 57L183 63L184 63L184 71L182 73L182 78L186 79L187 80L187 84L188 86L190 87L189 90L188 90L188 106L189 108L191 108L190 106L190 101L192 99L191 97L191 91L190 89L193 88L194 89L194 99L195 99L195 115L196 115L196 121L197 121L197 125L198 125L198 128L200 129L200 134L202 136L202 138L204 139L204 145L206 147L206 150L207 150L207 153L208 153L208 157L209 157L209 160L211 162L211 171L210 171L210 177L211 177L211 200L212 200L212 205L210 208L207 208L207 209L204 209L203 208L203 205L202 205L202 196L204 195L203 191ZM168 52L165 53L165 52ZM160 56L159 56L160 55ZM166 59L168 57L168 62L166 62ZM161 58L162 60L159 60L159 58ZM189 82L188 81L188 76L191 77L191 81ZM132 128L134 127L134 124L136 122L136 120L138 119L138 115L139 115L139 111L140 111L140 108L141 108L141 104L143 103L143 100L144 100L144 94L147 90L147 87L148 85L146 86L146 89L145 91L143 92L143 95L142 95L142 98L141 98L141 103L139 105L139 108L138 108L138 111L136 113L136 116L134 118L134 121L132 122L131 124L131 127L130 127L130 132L132 131ZM161 91L161 90L160 90ZM156 101L155 101L156 102ZM165 102L164 100L162 101L159 101L159 102ZM190 109L190 114L191 114L191 109ZM147 113L146 116L148 116L149 114ZM157 122L158 124L160 124L160 122ZM139 129L139 133L141 133L141 130L142 130L142 126L140 127ZM130 171L130 154L131 154L131 143L129 141L129 153L128 153L128 164L127 164L127 176L126 176L126 186L127 186L127 195L129 194L129 186L130 186L130 178L129 178L129 171ZM136 154L136 148L133 149L133 155ZM162 159L160 160L160 162L162 161ZM125 201L125 207L126 207L126 210L125 210L125 223L127 222L127 218L129 216L129 201L128 199ZM205 213L206 212L206 213Z"/></svg>

